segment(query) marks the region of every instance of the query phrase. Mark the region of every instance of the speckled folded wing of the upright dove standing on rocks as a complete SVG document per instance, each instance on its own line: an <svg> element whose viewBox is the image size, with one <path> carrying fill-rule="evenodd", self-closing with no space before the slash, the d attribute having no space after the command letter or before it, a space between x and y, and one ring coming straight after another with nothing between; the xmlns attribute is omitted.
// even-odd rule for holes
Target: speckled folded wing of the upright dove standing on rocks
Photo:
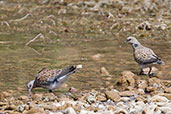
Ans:
<svg viewBox="0 0 171 114"><path fill-rule="evenodd" d="M135 50L134 57L139 64L151 64L158 60L158 57L153 50L145 47Z"/></svg>

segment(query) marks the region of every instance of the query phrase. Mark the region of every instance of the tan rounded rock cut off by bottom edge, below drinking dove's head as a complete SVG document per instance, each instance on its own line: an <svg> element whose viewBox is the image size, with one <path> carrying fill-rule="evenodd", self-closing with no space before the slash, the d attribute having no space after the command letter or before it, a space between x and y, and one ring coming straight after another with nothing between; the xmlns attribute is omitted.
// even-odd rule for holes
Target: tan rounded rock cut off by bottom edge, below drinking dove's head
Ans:
<svg viewBox="0 0 171 114"><path fill-rule="evenodd" d="M43 108L33 107L27 114L46 114Z"/></svg>

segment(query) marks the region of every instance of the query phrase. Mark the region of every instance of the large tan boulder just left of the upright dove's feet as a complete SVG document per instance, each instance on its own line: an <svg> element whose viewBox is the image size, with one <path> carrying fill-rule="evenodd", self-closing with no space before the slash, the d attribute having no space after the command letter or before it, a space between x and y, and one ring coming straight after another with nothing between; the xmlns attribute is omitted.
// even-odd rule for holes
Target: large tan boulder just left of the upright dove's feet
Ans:
<svg viewBox="0 0 171 114"><path fill-rule="evenodd" d="M124 85L124 84L126 84L126 86L134 87L135 86L134 76L135 76L135 74L132 73L131 71L123 71L122 72L122 76L117 81L117 85L120 85L120 84Z"/></svg>

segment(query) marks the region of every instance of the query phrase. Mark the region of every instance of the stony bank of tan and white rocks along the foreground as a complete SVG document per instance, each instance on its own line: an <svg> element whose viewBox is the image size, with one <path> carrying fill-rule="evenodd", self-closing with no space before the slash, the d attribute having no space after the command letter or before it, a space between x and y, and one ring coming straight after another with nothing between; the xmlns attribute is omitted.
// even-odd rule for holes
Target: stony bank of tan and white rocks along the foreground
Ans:
<svg viewBox="0 0 171 114"><path fill-rule="evenodd" d="M14 97L14 91L1 92L0 113L2 114L170 114L171 81L156 77L135 79L130 71L122 72L118 86L105 88L102 92L81 91L72 88L71 92L54 96L50 93L34 93ZM36 91L35 91L36 92Z"/></svg>

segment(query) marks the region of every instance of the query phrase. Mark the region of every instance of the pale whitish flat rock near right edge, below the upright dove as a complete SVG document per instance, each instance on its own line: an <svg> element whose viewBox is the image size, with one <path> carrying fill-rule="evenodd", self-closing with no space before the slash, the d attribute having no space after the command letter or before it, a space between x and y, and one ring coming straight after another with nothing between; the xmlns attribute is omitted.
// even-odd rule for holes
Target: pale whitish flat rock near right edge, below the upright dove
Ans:
<svg viewBox="0 0 171 114"><path fill-rule="evenodd" d="M155 95L153 97L150 98L151 101L153 102L169 102L169 100L164 97L164 96L159 96L159 95Z"/></svg>

